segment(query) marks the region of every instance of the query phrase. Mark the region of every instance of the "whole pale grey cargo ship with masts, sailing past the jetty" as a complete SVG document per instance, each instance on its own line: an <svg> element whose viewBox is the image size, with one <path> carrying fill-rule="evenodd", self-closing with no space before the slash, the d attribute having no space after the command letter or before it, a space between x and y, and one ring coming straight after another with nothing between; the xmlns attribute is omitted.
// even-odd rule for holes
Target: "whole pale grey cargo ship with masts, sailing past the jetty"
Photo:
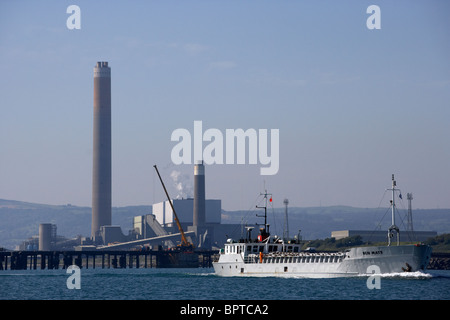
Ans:
<svg viewBox="0 0 450 320"><path fill-rule="evenodd" d="M395 209L395 180L393 178L391 205ZM267 193L265 194L267 199ZM267 204L266 207L267 208ZM265 214L265 217L267 213ZM299 239L284 241L271 237L267 220L258 239L228 239L220 257L213 263L221 276L299 276L309 278L345 277L376 273L398 273L424 270L431 257L431 247L421 244L391 246L394 231L399 233L395 220L388 231L388 245L366 246L342 252L302 250Z"/></svg>

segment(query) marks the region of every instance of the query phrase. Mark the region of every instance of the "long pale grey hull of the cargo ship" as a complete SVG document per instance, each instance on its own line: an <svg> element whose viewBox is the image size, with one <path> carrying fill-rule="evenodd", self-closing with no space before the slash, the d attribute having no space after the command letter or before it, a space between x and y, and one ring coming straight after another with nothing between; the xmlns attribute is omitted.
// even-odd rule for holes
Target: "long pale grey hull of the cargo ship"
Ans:
<svg viewBox="0 0 450 320"><path fill-rule="evenodd" d="M213 267L219 276L333 278L424 270L430 257L429 246L371 246L338 254L261 255L253 259L224 254Z"/></svg>

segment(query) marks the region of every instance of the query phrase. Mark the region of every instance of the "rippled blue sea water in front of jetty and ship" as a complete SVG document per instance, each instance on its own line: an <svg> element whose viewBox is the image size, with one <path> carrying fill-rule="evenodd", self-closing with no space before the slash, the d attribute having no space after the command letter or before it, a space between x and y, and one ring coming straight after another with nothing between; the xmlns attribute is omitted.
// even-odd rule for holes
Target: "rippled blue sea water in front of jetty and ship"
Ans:
<svg viewBox="0 0 450 320"><path fill-rule="evenodd" d="M0 271L1 300L449 300L450 271L367 277L223 278L213 269L81 269L80 289L66 270Z"/></svg>

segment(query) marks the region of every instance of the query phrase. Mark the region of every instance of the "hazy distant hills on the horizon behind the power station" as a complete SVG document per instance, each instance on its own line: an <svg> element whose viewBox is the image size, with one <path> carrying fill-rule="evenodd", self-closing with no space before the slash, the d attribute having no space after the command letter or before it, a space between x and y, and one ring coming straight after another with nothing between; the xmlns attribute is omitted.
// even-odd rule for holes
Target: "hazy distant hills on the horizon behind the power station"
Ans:
<svg viewBox="0 0 450 320"><path fill-rule="evenodd" d="M0 247L14 249L22 241L39 233L40 223L53 223L58 235L67 238L91 234L91 208L67 205L46 205L0 199ZM127 234L133 217L152 212L151 206L114 207L112 223ZM301 229L303 239L325 239L333 230L387 230L390 226L388 208L354 208L347 206L288 208L290 235ZM263 223L261 209L251 211L222 211L222 223L249 225ZM284 208L268 209L268 223L272 234L283 234ZM406 228L406 211L397 218L400 229ZM413 210L414 230L450 232L450 209ZM240 230L236 230L240 233ZM237 235L230 235L238 237Z"/></svg>

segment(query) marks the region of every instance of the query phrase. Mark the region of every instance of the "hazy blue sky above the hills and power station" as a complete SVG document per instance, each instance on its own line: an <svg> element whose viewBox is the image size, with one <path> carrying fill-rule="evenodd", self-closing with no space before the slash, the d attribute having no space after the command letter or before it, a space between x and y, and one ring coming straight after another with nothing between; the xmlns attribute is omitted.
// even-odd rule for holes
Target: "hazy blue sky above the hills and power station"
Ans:
<svg viewBox="0 0 450 320"><path fill-rule="evenodd" d="M80 8L69 29L67 8ZM381 29L369 29L372 5ZM91 206L93 68L112 77L113 206L192 190L179 128L279 130L279 170L206 166L250 209L450 208L448 1L0 1L0 198ZM208 142L203 142L203 148ZM224 142L225 145L225 142ZM180 186L180 185L178 185ZM404 197L406 198L406 197ZM380 202L381 201L381 202Z"/></svg>

